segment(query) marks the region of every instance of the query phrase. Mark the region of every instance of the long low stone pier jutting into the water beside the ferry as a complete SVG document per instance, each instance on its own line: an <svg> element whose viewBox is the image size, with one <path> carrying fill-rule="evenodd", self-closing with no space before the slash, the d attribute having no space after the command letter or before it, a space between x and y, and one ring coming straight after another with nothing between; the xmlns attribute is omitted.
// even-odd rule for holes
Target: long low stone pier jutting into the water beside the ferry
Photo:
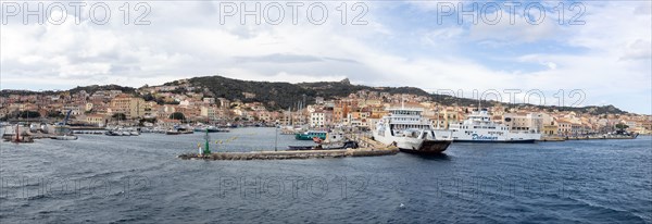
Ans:
<svg viewBox="0 0 652 224"><path fill-rule="evenodd" d="M334 150L281 150L281 151L252 151L252 152L213 152L200 155L198 153L186 153L177 155L183 160L291 160L291 159L323 159L346 157L377 157L399 153L397 147L383 147L379 142L368 138L359 138L359 149L334 149Z"/></svg>

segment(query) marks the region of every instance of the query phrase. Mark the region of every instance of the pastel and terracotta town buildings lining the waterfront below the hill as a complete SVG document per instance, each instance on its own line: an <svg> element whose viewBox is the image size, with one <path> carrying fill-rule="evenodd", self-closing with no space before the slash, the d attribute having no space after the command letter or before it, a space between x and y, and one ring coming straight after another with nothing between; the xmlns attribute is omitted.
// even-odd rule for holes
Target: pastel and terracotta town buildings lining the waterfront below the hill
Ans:
<svg viewBox="0 0 652 224"><path fill-rule="evenodd" d="M391 95L361 90L347 97L325 99L316 97L305 105L268 110L263 102L251 102L255 95L242 92L241 99L226 99L204 95L188 83L172 86L142 87L137 92L97 90L95 92L57 92L5 95L0 97L0 117L15 119L21 111L35 111L41 117L60 121L71 111L73 123L95 126L115 124L115 114L126 120L176 124L180 122L233 123L250 122L273 125L308 125L313 128L359 126L374 128L387 114L389 107L412 107L424 110L436 128L448 128L460 123L476 105L439 104L424 96ZM247 101L247 102L243 102ZM299 108L299 109L298 109ZM489 108L494 122L503 123L512 132L541 133L549 136L579 136L616 130L617 124L627 130L650 134L652 116L640 114L581 114L573 111L542 110L536 107ZM186 121L171 120L173 113L183 113ZM136 122L138 123L138 122Z"/></svg>

